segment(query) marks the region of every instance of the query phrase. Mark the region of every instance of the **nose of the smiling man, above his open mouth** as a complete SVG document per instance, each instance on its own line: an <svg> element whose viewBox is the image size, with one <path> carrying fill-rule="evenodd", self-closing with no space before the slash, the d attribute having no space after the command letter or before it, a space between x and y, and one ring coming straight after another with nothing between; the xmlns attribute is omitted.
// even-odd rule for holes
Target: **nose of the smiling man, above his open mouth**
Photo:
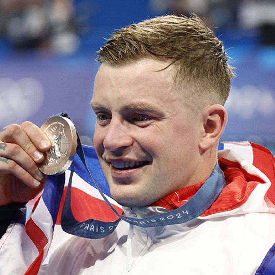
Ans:
<svg viewBox="0 0 275 275"><path fill-rule="evenodd" d="M107 151L118 153L125 147L133 144L133 138L130 135L130 130L125 121L112 118L111 122L106 127L106 131L103 146Z"/></svg>

